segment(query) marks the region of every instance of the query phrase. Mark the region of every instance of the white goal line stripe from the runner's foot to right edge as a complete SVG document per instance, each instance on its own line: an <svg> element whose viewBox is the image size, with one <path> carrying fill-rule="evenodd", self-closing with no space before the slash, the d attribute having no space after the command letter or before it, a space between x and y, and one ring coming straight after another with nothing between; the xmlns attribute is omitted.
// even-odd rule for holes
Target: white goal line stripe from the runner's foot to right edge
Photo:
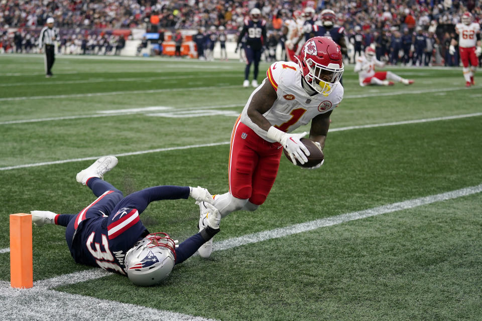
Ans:
<svg viewBox="0 0 482 321"><path fill-rule="evenodd" d="M215 251L227 250L227 249L231 249L237 246L242 246L250 243L257 243L257 242L266 241L274 238L307 232L307 231L311 231L321 227L341 224L349 221L364 219L367 217L377 216L377 215L386 214L386 213L392 213L392 212L401 211L401 210L407 210L407 209L411 209L422 205L451 200L451 199L472 195L480 192L482 192L482 184L463 188L460 190L450 191L442 194L436 194L436 195L421 197L418 199L408 200L404 202L383 205L383 206L375 207L365 211L351 212L347 214L327 217L324 219L295 224L295 225L278 228L270 231L263 231L259 233L243 235L240 237L236 237L236 238L232 238L232 239L228 239L220 242L215 242L214 249Z"/></svg>

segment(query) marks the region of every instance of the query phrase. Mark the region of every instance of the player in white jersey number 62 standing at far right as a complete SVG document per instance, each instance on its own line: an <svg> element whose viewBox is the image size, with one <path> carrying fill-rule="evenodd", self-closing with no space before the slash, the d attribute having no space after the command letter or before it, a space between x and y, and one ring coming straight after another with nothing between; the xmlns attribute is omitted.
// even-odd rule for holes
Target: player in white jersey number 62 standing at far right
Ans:
<svg viewBox="0 0 482 321"><path fill-rule="evenodd" d="M458 50L463 65L462 71L463 78L465 78L465 86L470 87L471 85L475 85L473 76L478 65L477 57L482 53L480 39L477 40L480 33L480 25L472 22L472 14L469 12L462 15L461 21L462 23L455 25L455 32L458 34ZM456 44L457 41L452 39L449 47L451 55L455 53L454 46Z"/></svg>

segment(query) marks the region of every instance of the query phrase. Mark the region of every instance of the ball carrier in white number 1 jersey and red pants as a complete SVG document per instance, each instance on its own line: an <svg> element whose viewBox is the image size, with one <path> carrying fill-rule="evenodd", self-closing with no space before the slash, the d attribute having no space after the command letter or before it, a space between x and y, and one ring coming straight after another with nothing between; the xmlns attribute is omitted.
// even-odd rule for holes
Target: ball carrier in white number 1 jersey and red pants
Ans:
<svg viewBox="0 0 482 321"><path fill-rule="evenodd" d="M212 203L225 217L238 210L255 211L263 204L275 183L283 148L304 164L309 151L300 142L307 133L292 133L311 121L309 139L325 145L330 114L343 98L339 79L343 73L338 45L327 37L309 39L297 56L297 63L277 61L267 78L251 94L231 134L229 192L215 195ZM317 169L319 164L311 169ZM209 209L200 204L199 228ZM198 249L209 257L212 242Z"/></svg>

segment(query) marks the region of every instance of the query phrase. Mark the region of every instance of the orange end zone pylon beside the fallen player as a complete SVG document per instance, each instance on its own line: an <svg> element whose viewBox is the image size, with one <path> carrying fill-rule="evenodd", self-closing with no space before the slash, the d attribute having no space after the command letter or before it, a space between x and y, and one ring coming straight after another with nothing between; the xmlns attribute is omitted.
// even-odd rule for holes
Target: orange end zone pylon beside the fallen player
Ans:
<svg viewBox="0 0 482 321"><path fill-rule="evenodd" d="M29 288L33 283L32 215L10 214L10 285Z"/></svg>

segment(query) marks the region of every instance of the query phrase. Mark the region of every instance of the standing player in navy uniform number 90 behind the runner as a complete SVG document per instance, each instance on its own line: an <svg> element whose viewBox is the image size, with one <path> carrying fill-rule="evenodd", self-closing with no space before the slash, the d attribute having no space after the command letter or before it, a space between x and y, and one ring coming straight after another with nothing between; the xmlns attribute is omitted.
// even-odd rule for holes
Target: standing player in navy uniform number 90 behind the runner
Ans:
<svg viewBox="0 0 482 321"><path fill-rule="evenodd" d="M245 68L245 81L243 87L250 86L250 69L251 64L254 63L255 68L253 71L253 80L251 85L258 87L258 72L261 60L261 54L263 53L266 42L266 21L261 19L261 11L258 8L253 8L250 11L250 18L245 19L244 27L237 38L237 45L234 53L237 52L237 48L241 43L243 37L247 35L245 44L246 54L246 68Z"/></svg>

